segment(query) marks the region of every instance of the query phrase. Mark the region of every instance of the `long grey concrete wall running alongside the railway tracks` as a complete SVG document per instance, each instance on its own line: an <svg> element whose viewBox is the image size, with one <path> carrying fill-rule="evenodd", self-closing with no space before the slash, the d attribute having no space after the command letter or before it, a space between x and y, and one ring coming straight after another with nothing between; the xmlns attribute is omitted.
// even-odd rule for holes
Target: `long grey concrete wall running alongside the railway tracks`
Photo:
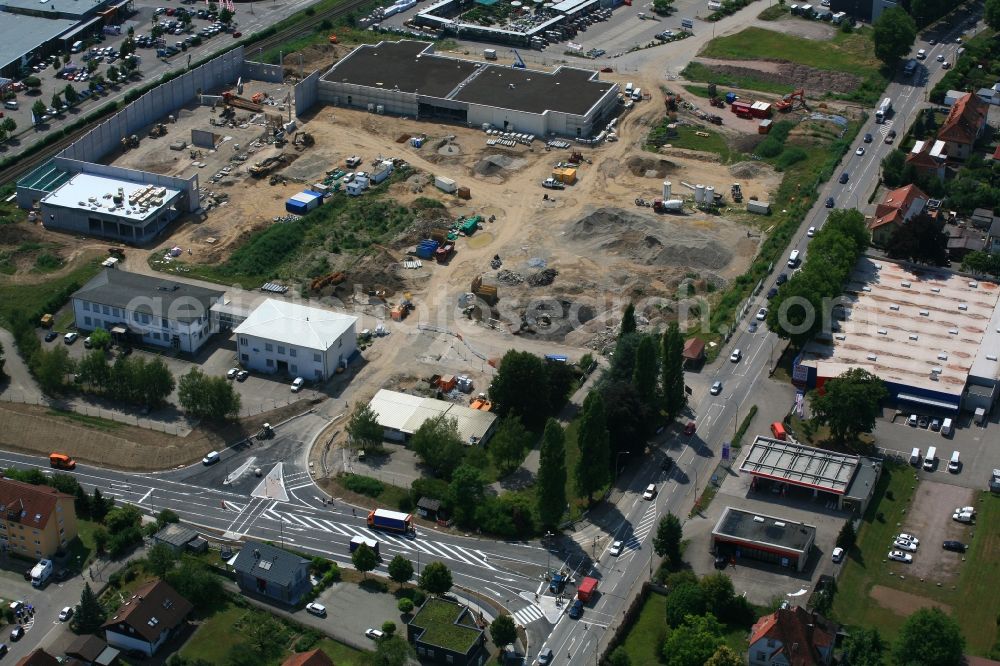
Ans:
<svg viewBox="0 0 1000 666"><path fill-rule="evenodd" d="M70 145L60 156L75 160L100 160L121 145L122 137L137 134L141 128L176 111L199 91L235 83L242 67L243 47L240 46L150 90Z"/></svg>

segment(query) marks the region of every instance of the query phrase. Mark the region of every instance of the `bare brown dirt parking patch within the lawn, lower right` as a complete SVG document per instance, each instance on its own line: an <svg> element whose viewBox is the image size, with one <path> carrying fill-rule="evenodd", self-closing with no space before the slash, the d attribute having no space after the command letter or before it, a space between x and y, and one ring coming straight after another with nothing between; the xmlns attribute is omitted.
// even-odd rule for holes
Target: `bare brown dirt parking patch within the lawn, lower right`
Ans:
<svg viewBox="0 0 1000 666"><path fill-rule="evenodd" d="M972 503L973 491L947 483L923 481L917 486L913 506L900 532L920 539L907 567L910 576L939 583L958 579L962 556L941 548L948 539L969 542L969 528L951 519L952 510ZM888 546L889 544L887 544Z"/></svg>

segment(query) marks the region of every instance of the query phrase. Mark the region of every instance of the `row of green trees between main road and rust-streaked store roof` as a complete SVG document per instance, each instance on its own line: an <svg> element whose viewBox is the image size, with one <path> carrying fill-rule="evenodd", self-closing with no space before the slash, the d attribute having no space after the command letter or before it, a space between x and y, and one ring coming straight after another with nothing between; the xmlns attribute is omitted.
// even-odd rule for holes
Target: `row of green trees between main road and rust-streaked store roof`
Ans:
<svg viewBox="0 0 1000 666"><path fill-rule="evenodd" d="M809 244L802 269L771 301L767 327L801 346L829 326L834 299L843 292L868 242L864 215L856 210L832 211Z"/></svg>

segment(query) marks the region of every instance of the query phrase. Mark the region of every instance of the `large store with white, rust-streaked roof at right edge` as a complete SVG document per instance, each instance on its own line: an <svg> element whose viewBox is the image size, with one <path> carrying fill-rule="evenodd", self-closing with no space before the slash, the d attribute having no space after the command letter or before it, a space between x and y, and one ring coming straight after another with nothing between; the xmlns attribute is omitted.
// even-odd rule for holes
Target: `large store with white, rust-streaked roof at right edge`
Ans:
<svg viewBox="0 0 1000 666"><path fill-rule="evenodd" d="M862 258L831 330L802 350L806 388L852 368L880 377L897 404L935 413L988 413L1000 378L1000 288L932 268Z"/></svg>

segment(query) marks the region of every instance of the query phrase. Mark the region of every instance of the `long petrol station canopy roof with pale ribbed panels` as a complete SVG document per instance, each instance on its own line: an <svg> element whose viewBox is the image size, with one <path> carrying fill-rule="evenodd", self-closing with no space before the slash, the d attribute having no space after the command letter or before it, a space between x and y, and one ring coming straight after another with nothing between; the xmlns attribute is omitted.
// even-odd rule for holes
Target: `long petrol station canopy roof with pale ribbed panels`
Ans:
<svg viewBox="0 0 1000 666"><path fill-rule="evenodd" d="M843 495L860 460L846 453L758 436L740 464L740 471Z"/></svg>

